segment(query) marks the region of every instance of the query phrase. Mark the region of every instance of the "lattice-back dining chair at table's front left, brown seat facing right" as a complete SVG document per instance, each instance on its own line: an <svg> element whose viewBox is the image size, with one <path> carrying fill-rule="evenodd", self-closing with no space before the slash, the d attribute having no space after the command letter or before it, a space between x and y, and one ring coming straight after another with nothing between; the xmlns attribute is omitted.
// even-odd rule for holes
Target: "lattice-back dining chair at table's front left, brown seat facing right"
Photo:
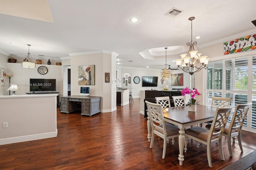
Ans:
<svg viewBox="0 0 256 170"><path fill-rule="evenodd" d="M152 138L151 138L149 148L152 148L153 146L154 134L156 134L160 138L163 138L164 146L163 146L162 158L164 159L165 153L166 153L167 139L178 137L180 128L170 123L165 123L162 107L160 104L150 103L149 101L145 101L145 102L148 107L148 117L149 117L151 128L152 128L152 135L151 135Z"/></svg>

